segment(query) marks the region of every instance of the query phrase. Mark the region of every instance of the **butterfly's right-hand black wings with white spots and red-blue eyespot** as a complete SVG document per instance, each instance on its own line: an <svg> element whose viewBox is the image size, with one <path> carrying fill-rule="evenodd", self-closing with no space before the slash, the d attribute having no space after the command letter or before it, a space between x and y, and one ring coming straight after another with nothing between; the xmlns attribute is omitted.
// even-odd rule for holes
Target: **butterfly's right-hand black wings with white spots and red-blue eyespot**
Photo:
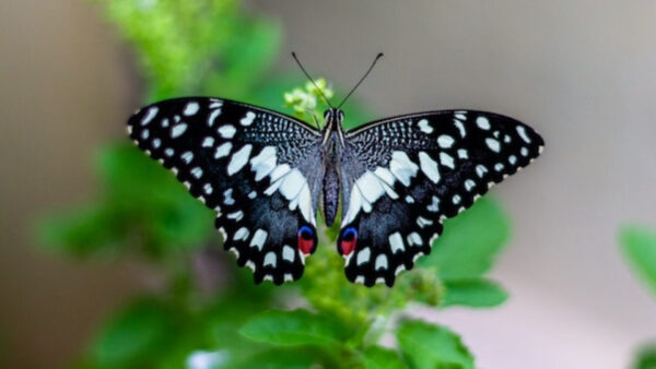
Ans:
<svg viewBox="0 0 656 369"><path fill-rule="evenodd" d="M527 166L542 145L528 126L472 110L395 117L347 132L338 238L347 277L391 286L431 252L445 218Z"/></svg>

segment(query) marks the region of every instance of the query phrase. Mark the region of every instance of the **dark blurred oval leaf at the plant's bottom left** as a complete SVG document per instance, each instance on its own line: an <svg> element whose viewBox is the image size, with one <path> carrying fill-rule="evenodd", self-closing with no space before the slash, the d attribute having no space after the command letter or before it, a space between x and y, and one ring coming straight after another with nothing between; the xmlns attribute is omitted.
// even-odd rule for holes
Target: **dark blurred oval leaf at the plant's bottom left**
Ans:
<svg viewBox="0 0 656 369"><path fill-rule="evenodd" d="M101 332L91 349L99 367L138 366L155 357L171 335L167 309L154 300L141 300L118 312Z"/></svg>

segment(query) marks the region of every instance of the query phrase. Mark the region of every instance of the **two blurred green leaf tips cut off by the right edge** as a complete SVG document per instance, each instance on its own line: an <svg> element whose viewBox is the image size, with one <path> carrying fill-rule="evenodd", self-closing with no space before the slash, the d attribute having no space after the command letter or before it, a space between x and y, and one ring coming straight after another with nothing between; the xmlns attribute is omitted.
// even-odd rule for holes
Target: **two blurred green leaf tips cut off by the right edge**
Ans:
<svg viewBox="0 0 656 369"><path fill-rule="evenodd" d="M620 231L620 248L637 277L656 295L656 231L642 226L625 226ZM633 368L656 368L656 343L640 348Z"/></svg>

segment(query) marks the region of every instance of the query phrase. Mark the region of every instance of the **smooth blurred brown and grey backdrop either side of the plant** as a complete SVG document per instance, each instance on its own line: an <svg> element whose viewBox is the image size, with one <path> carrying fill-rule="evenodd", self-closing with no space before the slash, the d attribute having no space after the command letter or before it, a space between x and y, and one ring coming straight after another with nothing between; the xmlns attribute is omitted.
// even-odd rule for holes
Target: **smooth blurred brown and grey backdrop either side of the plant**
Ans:
<svg viewBox="0 0 656 369"><path fill-rule="evenodd" d="M373 117L473 108L542 133L542 157L492 191L513 237L491 275L511 298L491 310L421 312L460 333L478 366L623 368L656 336L656 300L618 248L621 225L656 225L655 2L243 7L281 29L270 72L301 76L289 57L295 50L314 74L349 87L384 51L358 92ZM71 362L105 317L143 288L136 281L160 283L139 259L80 263L37 248L32 236L45 211L98 193L91 157L122 140L143 83L102 5L0 2L0 357L8 367Z"/></svg>

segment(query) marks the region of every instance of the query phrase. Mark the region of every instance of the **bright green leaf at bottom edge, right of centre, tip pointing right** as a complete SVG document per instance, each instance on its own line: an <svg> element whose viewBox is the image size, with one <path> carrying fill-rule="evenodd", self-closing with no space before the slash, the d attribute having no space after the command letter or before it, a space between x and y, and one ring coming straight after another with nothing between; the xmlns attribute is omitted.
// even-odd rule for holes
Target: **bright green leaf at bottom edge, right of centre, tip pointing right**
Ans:
<svg viewBox="0 0 656 369"><path fill-rule="evenodd" d="M410 320L401 323L397 340L412 368L473 368L473 357L460 337L444 326Z"/></svg>

